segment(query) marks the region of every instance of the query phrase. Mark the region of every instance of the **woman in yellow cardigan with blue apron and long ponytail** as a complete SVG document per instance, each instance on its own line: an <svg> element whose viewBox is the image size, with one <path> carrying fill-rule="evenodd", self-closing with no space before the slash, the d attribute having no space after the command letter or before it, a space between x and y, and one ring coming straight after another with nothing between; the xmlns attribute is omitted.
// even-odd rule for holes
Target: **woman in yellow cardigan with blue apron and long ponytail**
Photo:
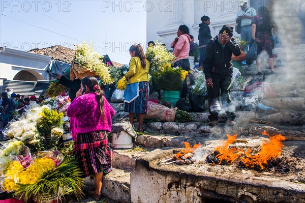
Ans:
<svg viewBox="0 0 305 203"><path fill-rule="evenodd" d="M140 44L132 45L129 53L132 58L129 63L129 71L125 75L127 87L124 92L124 111L129 112L129 121L132 125L135 113L139 114L139 131L143 132L142 124L148 105L149 63Z"/></svg>

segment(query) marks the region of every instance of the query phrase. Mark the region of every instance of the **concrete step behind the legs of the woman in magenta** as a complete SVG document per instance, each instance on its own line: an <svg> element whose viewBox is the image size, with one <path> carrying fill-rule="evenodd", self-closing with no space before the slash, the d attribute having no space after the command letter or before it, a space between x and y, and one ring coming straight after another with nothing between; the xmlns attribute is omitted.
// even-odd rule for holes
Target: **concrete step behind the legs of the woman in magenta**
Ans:
<svg viewBox="0 0 305 203"><path fill-rule="evenodd" d="M131 203L130 197L130 173L131 170L113 168L113 171L103 177L102 193L105 197L120 203ZM93 177L84 179L83 191L88 193L95 188Z"/></svg>

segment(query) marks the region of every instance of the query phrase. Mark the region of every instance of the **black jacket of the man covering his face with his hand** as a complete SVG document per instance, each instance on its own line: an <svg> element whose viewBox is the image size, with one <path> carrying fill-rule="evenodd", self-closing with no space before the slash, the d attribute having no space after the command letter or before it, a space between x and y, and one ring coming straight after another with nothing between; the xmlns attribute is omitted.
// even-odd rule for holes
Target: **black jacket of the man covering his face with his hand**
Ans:
<svg viewBox="0 0 305 203"><path fill-rule="evenodd" d="M205 79L231 75L233 73L232 53L236 56L240 55L240 48L233 37L223 48L218 41L218 36L211 39L206 48L203 61Z"/></svg>

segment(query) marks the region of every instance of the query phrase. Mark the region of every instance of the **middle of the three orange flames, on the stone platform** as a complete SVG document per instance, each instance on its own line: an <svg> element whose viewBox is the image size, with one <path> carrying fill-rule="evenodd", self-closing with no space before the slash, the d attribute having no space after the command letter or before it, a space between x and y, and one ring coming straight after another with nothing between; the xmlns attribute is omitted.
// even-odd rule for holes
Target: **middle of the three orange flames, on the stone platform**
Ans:
<svg viewBox="0 0 305 203"><path fill-rule="evenodd" d="M229 145L233 143L237 137L237 134L235 135L227 135L228 139L227 141L223 142L223 146L218 146L215 151L218 151L219 154L216 156L220 160L218 164L221 164L222 160L226 160L227 163L232 163L235 159L237 159L243 151L240 149L237 149L235 147L229 148ZM216 164L216 163L214 163ZM216 164L216 165L218 165Z"/></svg>

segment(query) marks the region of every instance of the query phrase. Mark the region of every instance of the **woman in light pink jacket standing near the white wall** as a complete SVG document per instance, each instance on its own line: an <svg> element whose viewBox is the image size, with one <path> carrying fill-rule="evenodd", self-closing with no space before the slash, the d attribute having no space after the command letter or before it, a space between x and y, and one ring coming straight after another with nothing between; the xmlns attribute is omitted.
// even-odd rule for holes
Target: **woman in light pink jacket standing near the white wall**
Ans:
<svg viewBox="0 0 305 203"><path fill-rule="evenodd" d="M181 67L183 70L190 71L189 52L191 37L189 35L189 27L187 25L180 25L178 28L177 36L171 43L171 48L174 49L174 55L177 61L173 67ZM180 98L186 98L188 93L187 78L182 84Z"/></svg>

